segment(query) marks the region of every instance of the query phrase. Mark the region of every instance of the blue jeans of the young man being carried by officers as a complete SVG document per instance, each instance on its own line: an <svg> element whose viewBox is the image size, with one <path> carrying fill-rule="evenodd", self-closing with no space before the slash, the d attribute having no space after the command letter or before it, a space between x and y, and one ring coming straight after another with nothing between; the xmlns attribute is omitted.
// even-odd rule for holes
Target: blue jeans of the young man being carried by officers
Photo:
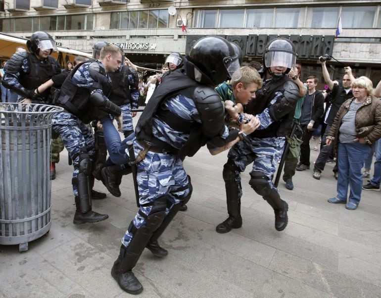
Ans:
<svg viewBox="0 0 381 298"><path fill-rule="evenodd" d="M127 141L135 139L135 134L129 135L123 142L120 139L119 132L116 130L112 120L110 118L103 118L100 121L103 125L104 142L106 143L109 159L106 161L106 165L125 164L130 161L128 156ZM111 162L110 162L111 161Z"/></svg>

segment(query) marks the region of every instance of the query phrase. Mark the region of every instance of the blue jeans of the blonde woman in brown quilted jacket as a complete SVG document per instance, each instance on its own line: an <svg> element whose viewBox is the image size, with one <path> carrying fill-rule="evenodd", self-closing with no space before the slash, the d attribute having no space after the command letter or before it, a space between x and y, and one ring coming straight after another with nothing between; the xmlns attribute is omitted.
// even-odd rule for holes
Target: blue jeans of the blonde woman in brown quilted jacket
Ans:
<svg viewBox="0 0 381 298"><path fill-rule="evenodd" d="M369 145L358 142L338 143L337 162L340 170L337 178L337 199L347 199L349 186L349 202L360 202L363 186L361 169L370 150Z"/></svg>

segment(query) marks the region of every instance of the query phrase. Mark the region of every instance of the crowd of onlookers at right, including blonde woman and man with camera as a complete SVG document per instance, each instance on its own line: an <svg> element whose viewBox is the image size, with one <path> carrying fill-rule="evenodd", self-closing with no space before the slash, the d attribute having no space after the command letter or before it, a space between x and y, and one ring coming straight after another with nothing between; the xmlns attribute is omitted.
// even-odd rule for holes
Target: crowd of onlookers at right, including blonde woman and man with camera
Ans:
<svg viewBox="0 0 381 298"><path fill-rule="evenodd" d="M353 210L360 202L362 190L380 190L381 149L378 149L377 144L381 137L381 81L373 88L369 78L355 78L350 67L344 68L341 80L333 81L326 61L320 63L326 89L316 89L319 81L315 76L307 77L304 82L306 93L301 97L300 114L297 115L296 108L294 116L299 129L292 142L289 142L291 147L299 151L299 160L296 164L291 158L286 159L283 179L286 188L292 190L294 170L313 168L313 178L320 180L326 163L334 162L333 177L337 180L337 195L328 201L345 203L347 209ZM299 68L299 74L300 71ZM312 164L310 145L313 150L319 151ZM374 176L364 184L363 178L370 177L374 155ZM293 160L297 159L294 157Z"/></svg>

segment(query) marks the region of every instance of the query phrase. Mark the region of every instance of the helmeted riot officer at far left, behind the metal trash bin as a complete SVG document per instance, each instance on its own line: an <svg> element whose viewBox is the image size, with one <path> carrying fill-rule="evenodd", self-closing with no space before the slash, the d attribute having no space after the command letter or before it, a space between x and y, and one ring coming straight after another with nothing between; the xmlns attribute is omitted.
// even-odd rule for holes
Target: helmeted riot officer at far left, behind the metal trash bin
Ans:
<svg viewBox="0 0 381 298"><path fill-rule="evenodd" d="M51 104L49 89L40 93L38 87L61 73L58 61L51 57L57 50L50 34L38 31L27 41L29 52L16 52L7 62L1 83L18 94L18 102Z"/></svg>

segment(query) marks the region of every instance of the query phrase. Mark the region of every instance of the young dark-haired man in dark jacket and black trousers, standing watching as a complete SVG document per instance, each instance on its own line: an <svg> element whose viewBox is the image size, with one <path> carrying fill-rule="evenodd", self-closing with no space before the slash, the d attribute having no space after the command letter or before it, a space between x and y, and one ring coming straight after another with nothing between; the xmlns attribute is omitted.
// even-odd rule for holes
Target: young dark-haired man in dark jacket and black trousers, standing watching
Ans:
<svg viewBox="0 0 381 298"><path fill-rule="evenodd" d="M316 90L318 79L315 76L307 78L308 93L304 99L300 126L303 129L303 143L300 145L300 159L296 166L297 171L310 168L310 139L313 130L320 124L320 118L324 112L324 96L321 91Z"/></svg>

